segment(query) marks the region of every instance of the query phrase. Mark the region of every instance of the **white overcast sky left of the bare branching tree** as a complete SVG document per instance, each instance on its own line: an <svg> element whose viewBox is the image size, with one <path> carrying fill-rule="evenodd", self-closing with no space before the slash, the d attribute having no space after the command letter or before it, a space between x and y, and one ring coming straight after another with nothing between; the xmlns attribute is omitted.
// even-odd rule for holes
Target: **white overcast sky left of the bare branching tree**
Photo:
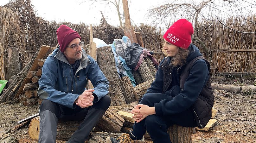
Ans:
<svg viewBox="0 0 256 143"><path fill-rule="evenodd" d="M149 24L152 20L146 17L148 9L163 4L166 0L129 0L131 23L140 25ZM1 0L0 5L8 3L9 0ZM38 15L46 20L69 21L72 23L99 24L103 12L107 22L113 26L119 26L119 19L116 8L113 4L83 2L83 0L31 0ZM81 3L81 4L80 4ZM120 10L123 14L122 0L120 0Z"/></svg>

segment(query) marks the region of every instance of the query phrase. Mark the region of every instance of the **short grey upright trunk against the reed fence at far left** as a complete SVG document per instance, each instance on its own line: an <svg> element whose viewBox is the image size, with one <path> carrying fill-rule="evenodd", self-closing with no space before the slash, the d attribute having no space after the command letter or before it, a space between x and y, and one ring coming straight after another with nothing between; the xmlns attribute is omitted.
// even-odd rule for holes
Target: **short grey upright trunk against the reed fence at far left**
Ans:
<svg viewBox="0 0 256 143"><path fill-rule="evenodd" d="M19 48L9 47L8 48L8 70L7 79L10 79L13 75L20 72L20 54Z"/></svg>

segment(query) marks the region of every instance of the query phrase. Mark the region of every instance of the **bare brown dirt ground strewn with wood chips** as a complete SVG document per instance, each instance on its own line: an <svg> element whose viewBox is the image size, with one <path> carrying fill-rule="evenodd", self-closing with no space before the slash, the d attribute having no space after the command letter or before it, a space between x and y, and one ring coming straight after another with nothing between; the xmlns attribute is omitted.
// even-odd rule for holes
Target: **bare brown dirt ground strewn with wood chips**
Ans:
<svg viewBox="0 0 256 143"><path fill-rule="evenodd" d="M229 85L253 85L256 80L246 79L213 79L212 83ZM212 137L223 139L222 143L255 143L256 142L256 94L231 93L223 90L214 90L214 108L218 110L215 119L218 123L208 132L196 131L193 142L204 142ZM0 104L0 131L12 129L17 121L38 113L39 105L26 107L22 103ZM29 125L11 131L19 143L36 143L28 135ZM1 137L0 137L1 138ZM63 141L57 141L62 143ZM147 140L147 143L152 141Z"/></svg>

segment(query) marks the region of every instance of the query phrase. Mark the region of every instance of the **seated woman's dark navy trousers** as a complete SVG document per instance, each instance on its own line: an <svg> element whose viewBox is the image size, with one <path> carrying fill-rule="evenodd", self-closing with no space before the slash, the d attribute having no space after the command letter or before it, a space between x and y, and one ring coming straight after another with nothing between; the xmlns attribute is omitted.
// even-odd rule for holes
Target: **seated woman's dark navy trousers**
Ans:
<svg viewBox="0 0 256 143"><path fill-rule="evenodd" d="M140 104L153 107L154 103L158 103L164 99L173 99L173 97L166 94L149 93L143 96ZM133 124L132 134L136 136L137 139L141 139L147 131L154 143L171 143L167 128L172 124L177 124L183 127L197 127L193 112L190 109L187 109L184 112L170 116L158 116L156 114L149 115L141 122L135 122Z"/></svg>

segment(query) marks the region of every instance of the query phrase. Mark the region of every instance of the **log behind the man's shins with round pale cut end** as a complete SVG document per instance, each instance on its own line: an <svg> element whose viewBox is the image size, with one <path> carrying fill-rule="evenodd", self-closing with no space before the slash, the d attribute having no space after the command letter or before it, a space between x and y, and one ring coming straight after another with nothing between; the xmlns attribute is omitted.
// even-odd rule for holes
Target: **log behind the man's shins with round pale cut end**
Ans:
<svg viewBox="0 0 256 143"><path fill-rule="evenodd" d="M40 117L33 118L29 124L29 137L33 140L38 140L39 131L40 131ZM71 135L75 132L78 128L79 124L82 121L68 121L68 122L61 122L58 123L57 126L57 140L68 140Z"/></svg>

